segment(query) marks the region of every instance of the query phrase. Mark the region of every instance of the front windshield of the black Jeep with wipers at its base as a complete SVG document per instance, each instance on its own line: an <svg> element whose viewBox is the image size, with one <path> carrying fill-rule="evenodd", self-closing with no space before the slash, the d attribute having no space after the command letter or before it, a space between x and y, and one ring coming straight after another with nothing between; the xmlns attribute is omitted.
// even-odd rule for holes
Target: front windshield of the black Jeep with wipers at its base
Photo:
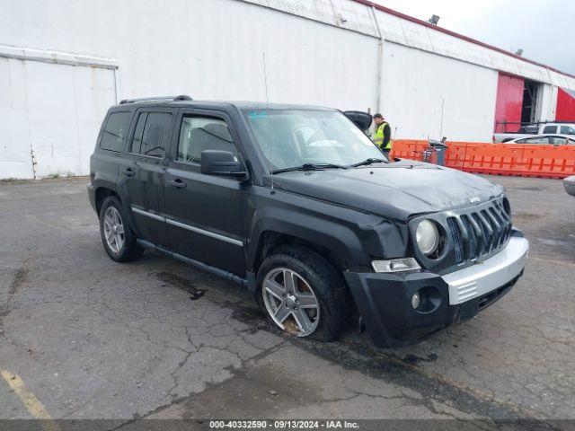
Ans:
<svg viewBox="0 0 575 431"><path fill-rule="evenodd" d="M336 110L243 110L273 171L311 164L383 159L376 145Z"/></svg>

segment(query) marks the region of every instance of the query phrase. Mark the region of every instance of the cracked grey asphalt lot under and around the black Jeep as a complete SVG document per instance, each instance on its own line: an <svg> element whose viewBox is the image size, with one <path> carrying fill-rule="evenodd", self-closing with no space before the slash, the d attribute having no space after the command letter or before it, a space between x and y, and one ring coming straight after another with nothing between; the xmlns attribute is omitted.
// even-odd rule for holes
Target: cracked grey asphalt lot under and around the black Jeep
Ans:
<svg viewBox="0 0 575 431"><path fill-rule="evenodd" d="M472 321L394 350L354 329L334 343L284 337L241 287L153 252L114 263L85 178L0 183L0 370L51 418L126 429L140 418L562 427L575 419L575 198L560 180L490 179L531 242L525 277ZM0 418L31 418L3 379Z"/></svg>

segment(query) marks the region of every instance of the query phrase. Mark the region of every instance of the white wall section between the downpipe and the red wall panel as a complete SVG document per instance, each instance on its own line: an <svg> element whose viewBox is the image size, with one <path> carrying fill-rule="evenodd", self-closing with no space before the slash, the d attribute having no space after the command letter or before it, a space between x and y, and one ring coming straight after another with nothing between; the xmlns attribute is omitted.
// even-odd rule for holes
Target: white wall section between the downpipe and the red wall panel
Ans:
<svg viewBox="0 0 575 431"><path fill-rule="evenodd" d="M498 73L386 42L383 113L394 137L491 142Z"/></svg>

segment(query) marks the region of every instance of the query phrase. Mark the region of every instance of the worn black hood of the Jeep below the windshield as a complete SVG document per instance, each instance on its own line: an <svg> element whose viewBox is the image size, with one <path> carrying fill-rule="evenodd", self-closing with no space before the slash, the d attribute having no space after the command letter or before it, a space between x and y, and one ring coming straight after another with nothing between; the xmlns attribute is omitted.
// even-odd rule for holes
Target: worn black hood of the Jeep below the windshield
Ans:
<svg viewBox="0 0 575 431"><path fill-rule="evenodd" d="M396 220L472 207L503 192L501 186L475 175L411 161L347 170L284 172L274 175L273 182L276 189Z"/></svg>

